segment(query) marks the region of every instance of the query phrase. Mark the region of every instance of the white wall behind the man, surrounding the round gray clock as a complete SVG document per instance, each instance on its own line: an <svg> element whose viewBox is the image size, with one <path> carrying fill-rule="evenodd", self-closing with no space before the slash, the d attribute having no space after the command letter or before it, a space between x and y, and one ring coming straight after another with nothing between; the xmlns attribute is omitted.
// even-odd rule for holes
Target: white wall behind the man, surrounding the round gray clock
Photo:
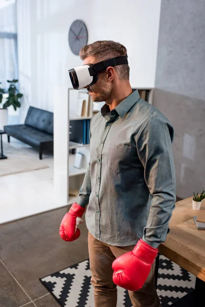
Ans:
<svg viewBox="0 0 205 307"><path fill-rule="evenodd" d="M82 63L68 45L75 19L86 23L88 43L105 39L126 46L133 87L154 87L160 4L161 0L18 0L21 120L29 105L53 112L55 85L72 87L68 70Z"/></svg>

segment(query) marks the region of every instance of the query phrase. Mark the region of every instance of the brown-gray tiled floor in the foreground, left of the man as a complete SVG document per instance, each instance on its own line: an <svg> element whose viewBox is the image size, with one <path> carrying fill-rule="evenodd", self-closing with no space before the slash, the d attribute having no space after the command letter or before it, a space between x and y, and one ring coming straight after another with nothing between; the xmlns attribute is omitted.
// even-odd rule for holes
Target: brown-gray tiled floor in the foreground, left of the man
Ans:
<svg viewBox="0 0 205 307"><path fill-rule="evenodd" d="M69 206L0 226L0 306L57 307L39 278L88 258L85 223L74 242L64 242L59 225ZM27 305L26 305L27 306Z"/></svg>

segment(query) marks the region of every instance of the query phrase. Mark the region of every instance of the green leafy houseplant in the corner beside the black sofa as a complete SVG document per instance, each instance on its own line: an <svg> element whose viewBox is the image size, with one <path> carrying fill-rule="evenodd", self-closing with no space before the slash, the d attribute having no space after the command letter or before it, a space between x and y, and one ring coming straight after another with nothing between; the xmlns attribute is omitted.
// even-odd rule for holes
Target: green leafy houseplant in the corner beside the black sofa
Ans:
<svg viewBox="0 0 205 307"><path fill-rule="evenodd" d="M7 82L10 83L10 85L8 89L8 97L7 97L6 102L3 105L3 108L7 108L10 105L12 105L14 110L16 111L17 107L20 107L19 98L22 98L23 94L19 93L17 90L17 87L16 87L16 83L18 82L17 79L7 80Z"/></svg>

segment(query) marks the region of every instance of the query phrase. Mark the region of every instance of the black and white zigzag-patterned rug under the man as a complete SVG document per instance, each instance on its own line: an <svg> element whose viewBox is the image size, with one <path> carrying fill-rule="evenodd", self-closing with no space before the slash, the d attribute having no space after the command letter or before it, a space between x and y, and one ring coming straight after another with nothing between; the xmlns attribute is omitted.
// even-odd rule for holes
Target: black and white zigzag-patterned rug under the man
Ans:
<svg viewBox="0 0 205 307"><path fill-rule="evenodd" d="M63 307L94 307L93 288L90 283L89 260L48 275L39 280ZM191 292L196 277L165 256L159 257L157 293L162 307ZM132 307L128 291L117 287L117 307Z"/></svg>

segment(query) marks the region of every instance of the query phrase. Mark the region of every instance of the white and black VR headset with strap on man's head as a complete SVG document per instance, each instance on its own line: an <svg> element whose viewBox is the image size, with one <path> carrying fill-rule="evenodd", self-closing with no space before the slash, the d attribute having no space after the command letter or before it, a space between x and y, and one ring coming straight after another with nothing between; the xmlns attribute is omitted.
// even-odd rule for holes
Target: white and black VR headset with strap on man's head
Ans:
<svg viewBox="0 0 205 307"><path fill-rule="evenodd" d="M95 64L85 64L76 68L70 69L69 76L73 85L73 89L83 89L85 86L90 86L97 82L98 73L106 70L108 67L128 64L128 56L117 56Z"/></svg>

